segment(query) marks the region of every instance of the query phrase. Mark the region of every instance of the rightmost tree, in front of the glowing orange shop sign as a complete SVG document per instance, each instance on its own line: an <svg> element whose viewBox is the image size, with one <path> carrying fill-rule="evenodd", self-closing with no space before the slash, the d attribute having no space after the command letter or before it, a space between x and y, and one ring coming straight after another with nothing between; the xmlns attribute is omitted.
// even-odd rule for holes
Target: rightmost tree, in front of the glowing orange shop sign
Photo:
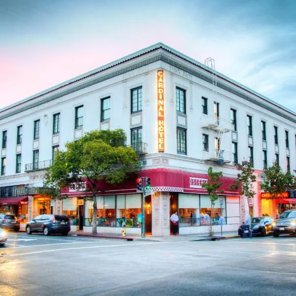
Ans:
<svg viewBox="0 0 296 296"><path fill-rule="evenodd" d="M271 198L277 198L277 195L296 187L295 177L290 173L284 173L281 167L274 161L272 166L265 167L263 170L265 179L260 187L271 195ZM280 197L280 211L282 208L282 197ZM281 214L281 213L280 213Z"/></svg>

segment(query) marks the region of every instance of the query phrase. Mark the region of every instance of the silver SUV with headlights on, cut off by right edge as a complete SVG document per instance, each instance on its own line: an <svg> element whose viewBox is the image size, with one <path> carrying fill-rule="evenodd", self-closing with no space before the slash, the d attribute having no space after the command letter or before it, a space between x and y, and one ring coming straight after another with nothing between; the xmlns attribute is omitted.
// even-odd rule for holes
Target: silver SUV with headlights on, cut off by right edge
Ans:
<svg viewBox="0 0 296 296"><path fill-rule="evenodd" d="M282 233L296 234L296 211L288 210L273 222L272 235L279 237Z"/></svg>

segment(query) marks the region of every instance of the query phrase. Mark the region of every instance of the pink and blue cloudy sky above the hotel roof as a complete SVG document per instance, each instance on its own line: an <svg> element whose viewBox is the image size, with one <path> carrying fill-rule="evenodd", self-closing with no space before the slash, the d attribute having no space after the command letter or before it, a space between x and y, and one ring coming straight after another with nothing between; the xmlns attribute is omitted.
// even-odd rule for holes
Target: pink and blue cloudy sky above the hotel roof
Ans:
<svg viewBox="0 0 296 296"><path fill-rule="evenodd" d="M295 0L1 0L0 108L157 42L296 112Z"/></svg>

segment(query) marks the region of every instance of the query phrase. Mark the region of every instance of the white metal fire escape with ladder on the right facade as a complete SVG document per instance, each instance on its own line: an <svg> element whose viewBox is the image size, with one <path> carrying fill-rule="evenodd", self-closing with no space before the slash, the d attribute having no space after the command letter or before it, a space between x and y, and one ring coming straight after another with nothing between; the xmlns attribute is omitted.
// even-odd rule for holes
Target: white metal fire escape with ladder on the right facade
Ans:
<svg viewBox="0 0 296 296"><path fill-rule="evenodd" d="M205 65L210 68L212 73L212 90L214 102L216 102L215 97L217 96L217 74L215 70L215 60L212 58L207 58L205 60ZM204 160L211 160L223 164L230 162L231 153L222 149L224 133L230 131L230 120L223 119L218 114L218 106L216 105L216 110L214 110L213 115L206 115L201 117L201 127L212 129L216 131L216 142L214 149L204 149L202 150L202 157Z"/></svg>

